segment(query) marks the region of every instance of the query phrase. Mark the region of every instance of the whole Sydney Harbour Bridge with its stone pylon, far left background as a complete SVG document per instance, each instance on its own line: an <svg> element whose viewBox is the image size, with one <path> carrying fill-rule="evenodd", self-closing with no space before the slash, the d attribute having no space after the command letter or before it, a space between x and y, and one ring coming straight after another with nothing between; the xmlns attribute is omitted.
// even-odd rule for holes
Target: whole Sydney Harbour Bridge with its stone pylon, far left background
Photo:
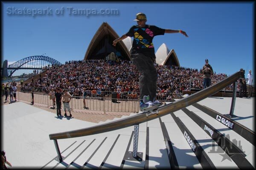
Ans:
<svg viewBox="0 0 256 170"><path fill-rule="evenodd" d="M2 76L10 77L19 69L43 69L45 66L62 65L59 61L44 55L35 55L27 58L23 58L8 66L8 61L3 62L1 68Z"/></svg>

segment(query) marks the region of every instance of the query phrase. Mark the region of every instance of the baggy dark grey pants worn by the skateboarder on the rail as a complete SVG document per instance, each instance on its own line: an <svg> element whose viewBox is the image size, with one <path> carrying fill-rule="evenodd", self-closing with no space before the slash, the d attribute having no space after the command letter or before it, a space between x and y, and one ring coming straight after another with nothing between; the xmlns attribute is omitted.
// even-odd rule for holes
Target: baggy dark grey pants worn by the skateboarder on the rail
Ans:
<svg viewBox="0 0 256 170"><path fill-rule="evenodd" d="M142 53L137 53L131 54L131 61L140 72L140 99L149 95L149 100L153 101L157 94L157 70L154 67L154 60Z"/></svg>

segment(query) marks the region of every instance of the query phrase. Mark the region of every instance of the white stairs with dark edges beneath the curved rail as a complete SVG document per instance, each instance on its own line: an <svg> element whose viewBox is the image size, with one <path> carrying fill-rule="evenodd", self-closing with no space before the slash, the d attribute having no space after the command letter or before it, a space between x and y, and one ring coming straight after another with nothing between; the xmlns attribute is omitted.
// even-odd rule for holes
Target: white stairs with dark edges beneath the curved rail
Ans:
<svg viewBox="0 0 256 170"><path fill-rule="evenodd" d="M244 158L250 163L249 167L255 168L253 157L255 147L253 144L201 110L193 106L186 109L195 112L223 135L230 136L230 141L239 141L239 143L234 142L233 144L237 147L242 146ZM130 116L135 114L131 113ZM126 117L128 116L98 124ZM68 147L67 144L65 147L61 146L61 148L67 148L61 153L63 161L59 162L58 158L55 157L44 167L53 169L202 169L209 166L206 165L203 157L199 158L198 153L193 152L184 137L184 132L179 128L177 120L180 120L187 128L186 130L195 138L194 142L201 147L202 154L210 160L210 163L207 163L210 166L217 169L239 169L247 166L242 163L239 164L237 160L234 161L236 158L228 155L223 149L224 147L219 146L183 110L179 110L139 125L137 152L138 154L141 153L138 155L141 156L141 161L131 157L134 146L134 127L132 126L70 140L75 142L72 146Z"/></svg>

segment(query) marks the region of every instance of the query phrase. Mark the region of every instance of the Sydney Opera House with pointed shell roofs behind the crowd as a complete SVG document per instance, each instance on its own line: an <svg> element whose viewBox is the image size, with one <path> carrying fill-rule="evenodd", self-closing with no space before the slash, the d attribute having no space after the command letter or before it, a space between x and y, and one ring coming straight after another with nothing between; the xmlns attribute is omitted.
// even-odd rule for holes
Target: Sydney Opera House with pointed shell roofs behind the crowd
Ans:
<svg viewBox="0 0 256 170"><path fill-rule="evenodd" d="M130 60L130 50L132 47L131 37L127 37L116 46L113 46L113 40L119 38L111 26L104 22L93 36L84 60L105 59L109 61ZM160 65L179 66L180 63L174 49L169 50L163 43L156 52L156 63Z"/></svg>

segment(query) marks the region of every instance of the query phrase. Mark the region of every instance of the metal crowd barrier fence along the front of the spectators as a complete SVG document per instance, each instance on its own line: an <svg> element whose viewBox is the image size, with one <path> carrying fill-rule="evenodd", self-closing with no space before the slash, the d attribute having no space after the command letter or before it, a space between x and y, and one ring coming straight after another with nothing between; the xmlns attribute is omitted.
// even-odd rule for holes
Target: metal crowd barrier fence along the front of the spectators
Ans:
<svg viewBox="0 0 256 170"><path fill-rule="evenodd" d="M21 101L32 101L32 95L30 92L17 92L17 100ZM140 104L138 99L120 99L120 98L105 98L105 97L82 97L76 96L72 97L70 100L71 111L84 110L88 107L89 110L102 111L105 112L136 112L140 110ZM44 107L53 107L53 102L50 100L48 94L36 93L34 92L34 103L40 104ZM61 104L63 108L63 103Z"/></svg>

